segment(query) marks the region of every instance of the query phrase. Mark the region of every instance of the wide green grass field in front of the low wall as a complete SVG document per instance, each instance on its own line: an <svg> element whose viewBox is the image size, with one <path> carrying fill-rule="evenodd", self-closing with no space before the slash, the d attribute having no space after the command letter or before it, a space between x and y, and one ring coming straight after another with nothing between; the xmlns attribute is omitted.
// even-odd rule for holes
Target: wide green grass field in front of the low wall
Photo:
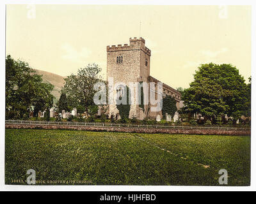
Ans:
<svg viewBox="0 0 256 204"><path fill-rule="evenodd" d="M45 184L219 186L226 169L228 186L250 185L250 136L6 129L5 147L6 184L32 168Z"/></svg>

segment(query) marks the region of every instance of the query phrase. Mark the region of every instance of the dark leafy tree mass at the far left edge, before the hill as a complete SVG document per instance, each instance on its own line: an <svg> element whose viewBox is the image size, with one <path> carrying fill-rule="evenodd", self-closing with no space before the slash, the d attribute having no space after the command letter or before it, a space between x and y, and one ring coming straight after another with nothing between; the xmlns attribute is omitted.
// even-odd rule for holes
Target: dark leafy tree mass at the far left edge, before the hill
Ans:
<svg viewBox="0 0 256 204"><path fill-rule="evenodd" d="M29 64L6 57L6 118L28 117L29 110L34 109L35 115L39 110L51 108L53 85L42 82L42 76L36 75Z"/></svg>

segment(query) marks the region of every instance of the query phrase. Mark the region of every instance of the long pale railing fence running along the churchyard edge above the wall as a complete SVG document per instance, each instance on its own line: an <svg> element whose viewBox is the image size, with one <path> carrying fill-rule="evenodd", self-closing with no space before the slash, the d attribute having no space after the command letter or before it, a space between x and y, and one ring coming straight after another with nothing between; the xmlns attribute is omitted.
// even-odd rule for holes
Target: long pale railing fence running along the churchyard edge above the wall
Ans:
<svg viewBox="0 0 256 204"><path fill-rule="evenodd" d="M207 127L207 126L159 126L144 124L115 124L115 123L99 123L99 122L54 122L54 121L32 121L32 120L5 120L5 124L24 124L24 125L40 125L40 126L88 126L88 127L120 127L120 128L158 128L158 129L214 129L214 130L237 130L250 131L250 128L234 128L234 127Z"/></svg>

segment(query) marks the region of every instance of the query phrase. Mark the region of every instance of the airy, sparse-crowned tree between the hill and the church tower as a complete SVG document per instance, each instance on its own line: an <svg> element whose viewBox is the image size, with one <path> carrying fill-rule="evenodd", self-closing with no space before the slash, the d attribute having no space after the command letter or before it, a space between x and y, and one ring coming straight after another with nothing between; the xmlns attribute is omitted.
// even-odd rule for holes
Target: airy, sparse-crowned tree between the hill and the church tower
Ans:
<svg viewBox="0 0 256 204"><path fill-rule="evenodd" d="M86 111L88 106L94 105L93 96L96 91L93 85L102 81L100 71L99 65L93 63L80 68L77 75L72 74L65 78L65 85L61 91L67 94L68 105L73 107L81 105Z"/></svg>

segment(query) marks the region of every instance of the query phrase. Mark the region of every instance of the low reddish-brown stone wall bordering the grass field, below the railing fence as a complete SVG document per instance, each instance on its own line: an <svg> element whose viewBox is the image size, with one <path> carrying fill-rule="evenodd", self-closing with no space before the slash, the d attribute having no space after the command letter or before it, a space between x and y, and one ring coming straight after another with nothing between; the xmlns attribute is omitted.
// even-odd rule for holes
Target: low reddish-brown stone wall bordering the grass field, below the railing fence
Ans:
<svg viewBox="0 0 256 204"><path fill-rule="evenodd" d="M221 130L221 129L162 129L162 128L125 128L125 127L88 127L88 126L61 126L61 125L24 125L5 124L5 128L27 129L76 129L84 131L108 131L124 133L168 133L183 135L238 135L250 136L251 131L246 130Z"/></svg>

